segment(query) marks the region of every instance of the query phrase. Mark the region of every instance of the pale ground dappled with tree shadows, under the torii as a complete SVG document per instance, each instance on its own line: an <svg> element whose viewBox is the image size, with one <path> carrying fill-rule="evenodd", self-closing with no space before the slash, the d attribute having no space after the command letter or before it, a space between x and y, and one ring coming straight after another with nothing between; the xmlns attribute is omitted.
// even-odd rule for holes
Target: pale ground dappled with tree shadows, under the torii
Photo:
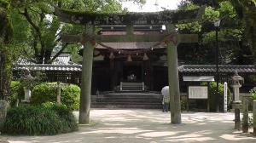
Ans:
<svg viewBox="0 0 256 143"><path fill-rule="evenodd" d="M78 114L78 113L76 113ZM11 143L224 143L256 142L251 134L234 129L234 114L188 112L183 123L170 123L170 112L158 110L92 110L90 125L54 136L0 136Z"/></svg>

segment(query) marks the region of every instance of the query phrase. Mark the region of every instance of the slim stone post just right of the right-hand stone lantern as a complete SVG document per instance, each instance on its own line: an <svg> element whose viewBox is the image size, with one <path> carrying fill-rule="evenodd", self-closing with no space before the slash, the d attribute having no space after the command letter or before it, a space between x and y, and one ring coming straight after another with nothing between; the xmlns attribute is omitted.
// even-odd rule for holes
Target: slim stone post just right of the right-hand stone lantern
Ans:
<svg viewBox="0 0 256 143"><path fill-rule="evenodd" d="M249 124L248 124L248 100L244 98L242 100L242 123L241 130L242 133L248 133Z"/></svg>

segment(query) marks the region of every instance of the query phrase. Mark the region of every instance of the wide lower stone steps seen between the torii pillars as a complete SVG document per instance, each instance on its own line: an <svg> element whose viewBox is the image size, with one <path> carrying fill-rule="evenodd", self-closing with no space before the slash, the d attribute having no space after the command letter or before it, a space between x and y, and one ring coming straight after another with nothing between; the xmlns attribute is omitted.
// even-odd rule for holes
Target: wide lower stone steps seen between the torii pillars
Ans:
<svg viewBox="0 0 256 143"><path fill-rule="evenodd" d="M106 93L91 96L92 108L162 109L162 95L155 93Z"/></svg>

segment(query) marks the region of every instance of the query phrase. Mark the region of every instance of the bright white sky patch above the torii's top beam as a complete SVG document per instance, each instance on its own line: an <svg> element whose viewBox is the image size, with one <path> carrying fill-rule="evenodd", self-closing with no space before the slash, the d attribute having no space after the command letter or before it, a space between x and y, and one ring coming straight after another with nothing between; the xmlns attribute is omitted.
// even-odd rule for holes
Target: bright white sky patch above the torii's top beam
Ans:
<svg viewBox="0 0 256 143"><path fill-rule="evenodd" d="M162 7L166 9L177 9L178 3L182 0L146 0L147 3L143 5L141 9L134 3L125 2L123 3L123 8L127 8L130 12L155 12L161 11ZM155 6L155 2L158 2L159 6Z"/></svg>

